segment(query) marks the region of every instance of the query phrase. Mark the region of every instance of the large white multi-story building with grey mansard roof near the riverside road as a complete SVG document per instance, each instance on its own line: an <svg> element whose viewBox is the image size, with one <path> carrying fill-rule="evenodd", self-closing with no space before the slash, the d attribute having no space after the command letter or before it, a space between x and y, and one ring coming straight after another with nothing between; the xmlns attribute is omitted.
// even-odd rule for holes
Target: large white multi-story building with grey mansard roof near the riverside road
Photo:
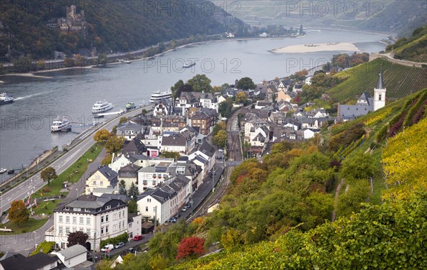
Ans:
<svg viewBox="0 0 427 270"><path fill-rule="evenodd" d="M116 198L82 195L53 210L53 227L46 231L46 241L65 249L70 232L89 235L88 250L100 249L100 241L127 232L127 204Z"/></svg>

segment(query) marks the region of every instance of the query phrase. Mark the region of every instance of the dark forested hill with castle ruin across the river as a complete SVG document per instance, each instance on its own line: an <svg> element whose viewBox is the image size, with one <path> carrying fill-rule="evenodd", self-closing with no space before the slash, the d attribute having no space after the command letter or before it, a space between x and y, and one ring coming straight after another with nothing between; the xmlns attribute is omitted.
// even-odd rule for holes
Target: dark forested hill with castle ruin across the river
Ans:
<svg viewBox="0 0 427 270"><path fill-rule="evenodd" d="M66 19L70 5L76 16L84 11L84 27L70 31L63 21L61 31L55 23ZM241 20L206 0L3 0L0 9L0 60L10 60L8 45L14 58L38 59L49 58L53 50L125 52L172 39L246 31ZM79 27L78 20L74 26Z"/></svg>

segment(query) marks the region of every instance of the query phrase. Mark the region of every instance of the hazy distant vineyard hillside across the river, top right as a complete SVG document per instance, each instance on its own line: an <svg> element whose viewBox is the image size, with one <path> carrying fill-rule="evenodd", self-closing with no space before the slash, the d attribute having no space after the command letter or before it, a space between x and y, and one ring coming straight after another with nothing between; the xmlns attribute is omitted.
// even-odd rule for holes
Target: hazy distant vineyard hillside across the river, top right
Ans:
<svg viewBox="0 0 427 270"><path fill-rule="evenodd" d="M216 4L224 1L214 0ZM410 36L413 29L427 23L426 1L280 1L242 0L228 5L246 23L265 26L278 24L310 28L354 28L367 31L399 33ZM224 5L224 4L223 4Z"/></svg>

